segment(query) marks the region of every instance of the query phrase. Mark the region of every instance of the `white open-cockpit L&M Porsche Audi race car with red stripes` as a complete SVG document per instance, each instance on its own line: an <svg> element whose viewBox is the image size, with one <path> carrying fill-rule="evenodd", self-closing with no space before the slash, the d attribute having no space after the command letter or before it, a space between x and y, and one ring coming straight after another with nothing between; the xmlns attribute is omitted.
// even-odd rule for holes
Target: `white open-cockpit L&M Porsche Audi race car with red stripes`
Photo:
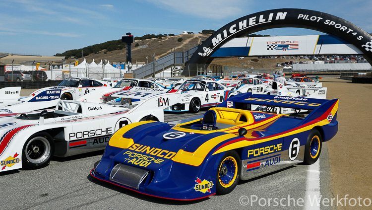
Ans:
<svg viewBox="0 0 372 210"><path fill-rule="evenodd" d="M37 169L47 165L53 155L65 157L104 149L119 128L149 119L163 121L163 109L179 102L180 93L127 91L127 98L138 97L144 100L130 106L60 100L54 110L1 120L0 172Z"/></svg>

